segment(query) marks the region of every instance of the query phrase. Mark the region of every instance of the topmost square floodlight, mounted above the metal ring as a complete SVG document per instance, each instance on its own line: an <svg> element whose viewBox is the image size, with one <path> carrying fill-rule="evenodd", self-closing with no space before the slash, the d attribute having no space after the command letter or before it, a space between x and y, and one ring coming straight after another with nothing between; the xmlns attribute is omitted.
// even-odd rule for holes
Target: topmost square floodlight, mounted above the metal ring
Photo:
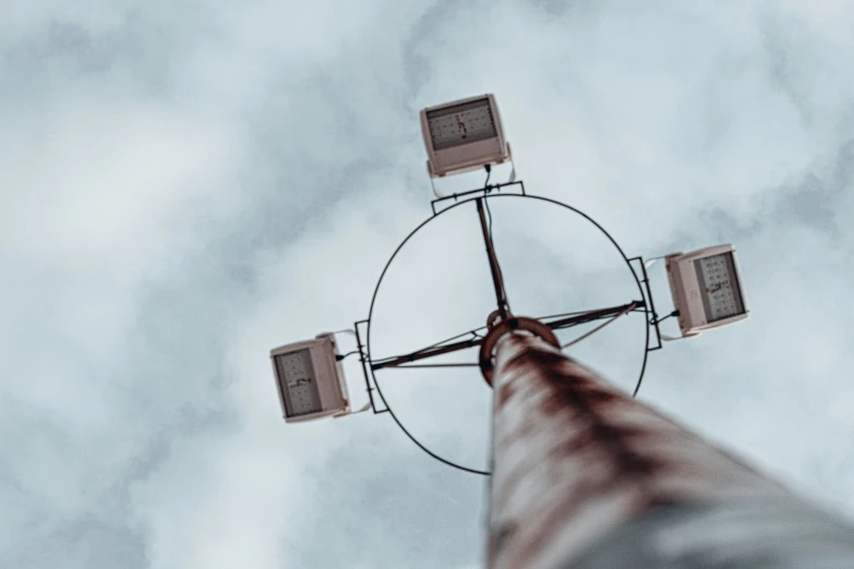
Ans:
<svg viewBox="0 0 854 569"><path fill-rule="evenodd" d="M421 132L432 178L510 159L498 106L489 94L423 109Z"/></svg>

